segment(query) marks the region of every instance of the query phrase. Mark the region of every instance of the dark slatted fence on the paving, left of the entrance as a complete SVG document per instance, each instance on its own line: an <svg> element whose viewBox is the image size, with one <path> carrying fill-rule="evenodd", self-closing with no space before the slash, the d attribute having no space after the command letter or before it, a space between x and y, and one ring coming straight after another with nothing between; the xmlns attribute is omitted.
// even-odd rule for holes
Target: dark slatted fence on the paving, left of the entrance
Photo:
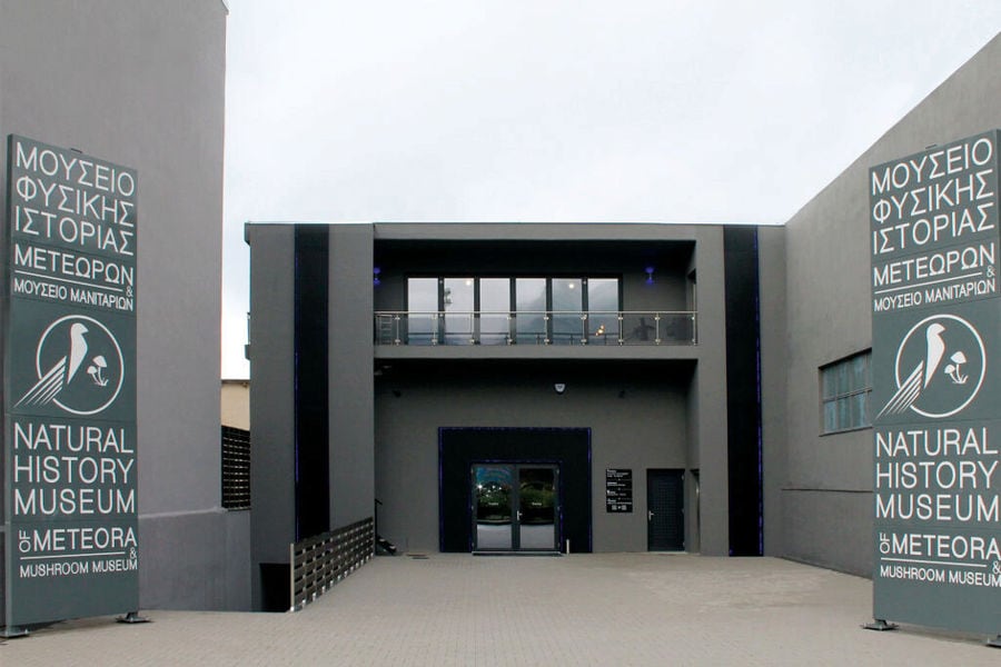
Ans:
<svg viewBox="0 0 1001 667"><path fill-rule="evenodd" d="M289 546L291 607L301 609L375 555L371 517Z"/></svg>

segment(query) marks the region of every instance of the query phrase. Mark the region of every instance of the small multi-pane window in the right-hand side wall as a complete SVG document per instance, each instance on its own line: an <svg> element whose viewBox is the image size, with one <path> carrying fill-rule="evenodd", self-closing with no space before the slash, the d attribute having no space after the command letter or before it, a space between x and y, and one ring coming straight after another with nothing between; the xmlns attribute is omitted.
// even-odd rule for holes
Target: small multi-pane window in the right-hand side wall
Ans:
<svg viewBox="0 0 1001 667"><path fill-rule="evenodd" d="M853 355L820 370L823 432L872 426L872 352Z"/></svg>

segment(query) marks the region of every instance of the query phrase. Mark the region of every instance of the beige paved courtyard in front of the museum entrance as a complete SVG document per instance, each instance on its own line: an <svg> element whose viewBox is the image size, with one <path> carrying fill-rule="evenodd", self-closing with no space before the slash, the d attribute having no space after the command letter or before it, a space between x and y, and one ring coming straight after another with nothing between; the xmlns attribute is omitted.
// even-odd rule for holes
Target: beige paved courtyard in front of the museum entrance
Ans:
<svg viewBox="0 0 1001 667"><path fill-rule="evenodd" d="M44 665L1001 665L987 637L860 628L871 583L773 558L375 558L296 614L161 611L0 645Z"/></svg>

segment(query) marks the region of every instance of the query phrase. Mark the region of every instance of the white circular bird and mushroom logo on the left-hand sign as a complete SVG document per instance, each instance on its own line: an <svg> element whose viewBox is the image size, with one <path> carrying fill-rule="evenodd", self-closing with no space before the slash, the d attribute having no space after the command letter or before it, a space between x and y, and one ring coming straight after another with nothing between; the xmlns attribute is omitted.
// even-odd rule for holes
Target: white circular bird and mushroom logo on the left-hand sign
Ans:
<svg viewBox="0 0 1001 667"><path fill-rule="evenodd" d="M118 398L125 377L111 331L83 315L68 315L42 332L34 355L38 381L14 405L54 404L71 415L97 415Z"/></svg>

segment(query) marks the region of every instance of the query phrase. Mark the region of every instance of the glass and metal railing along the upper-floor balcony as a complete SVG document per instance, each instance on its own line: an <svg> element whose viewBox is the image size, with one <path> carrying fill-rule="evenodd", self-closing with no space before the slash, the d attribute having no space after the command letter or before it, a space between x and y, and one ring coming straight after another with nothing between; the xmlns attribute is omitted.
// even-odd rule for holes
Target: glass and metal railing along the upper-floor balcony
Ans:
<svg viewBox="0 0 1001 667"><path fill-rule="evenodd" d="M375 313L376 345L695 345L696 312Z"/></svg>

